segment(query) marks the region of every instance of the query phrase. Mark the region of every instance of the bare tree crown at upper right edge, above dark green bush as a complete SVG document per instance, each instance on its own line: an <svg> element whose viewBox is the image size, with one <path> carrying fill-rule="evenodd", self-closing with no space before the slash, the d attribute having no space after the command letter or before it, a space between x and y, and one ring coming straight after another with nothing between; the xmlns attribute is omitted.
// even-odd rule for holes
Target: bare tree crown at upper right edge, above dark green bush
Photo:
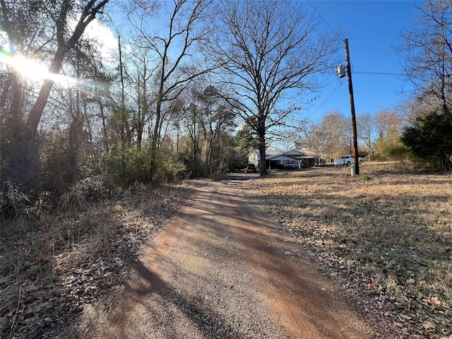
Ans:
<svg viewBox="0 0 452 339"><path fill-rule="evenodd" d="M421 28L407 31L399 47L405 56L405 75L452 124L452 6L450 0L429 0L417 7Z"/></svg>

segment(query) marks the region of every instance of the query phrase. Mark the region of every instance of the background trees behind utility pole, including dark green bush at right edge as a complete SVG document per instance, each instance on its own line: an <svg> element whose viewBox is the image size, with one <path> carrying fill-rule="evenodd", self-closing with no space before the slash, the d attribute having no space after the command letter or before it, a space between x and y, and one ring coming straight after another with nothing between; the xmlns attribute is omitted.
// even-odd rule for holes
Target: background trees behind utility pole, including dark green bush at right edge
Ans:
<svg viewBox="0 0 452 339"><path fill-rule="evenodd" d="M359 153L369 160L410 158L421 168L451 171L452 6L431 0L417 6L417 13L420 26L404 32L398 47L416 92L400 107L357 115ZM350 118L328 112L320 122L305 124L296 144L338 157L352 153L350 140Z"/></svg>

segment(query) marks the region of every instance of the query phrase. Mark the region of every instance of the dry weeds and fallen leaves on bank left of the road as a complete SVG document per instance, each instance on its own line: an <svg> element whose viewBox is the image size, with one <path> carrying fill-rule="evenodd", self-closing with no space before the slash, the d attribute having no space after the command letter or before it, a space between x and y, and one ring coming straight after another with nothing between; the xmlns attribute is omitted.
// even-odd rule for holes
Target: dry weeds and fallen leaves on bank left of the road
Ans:
<svg viewBox="0 0 452 339"><path fill-rule="evenodd" d="M191 192L140 185L121 199L40 208L1 225L0 338L54 338L85 304L121 290L140 246Z"/></svg>

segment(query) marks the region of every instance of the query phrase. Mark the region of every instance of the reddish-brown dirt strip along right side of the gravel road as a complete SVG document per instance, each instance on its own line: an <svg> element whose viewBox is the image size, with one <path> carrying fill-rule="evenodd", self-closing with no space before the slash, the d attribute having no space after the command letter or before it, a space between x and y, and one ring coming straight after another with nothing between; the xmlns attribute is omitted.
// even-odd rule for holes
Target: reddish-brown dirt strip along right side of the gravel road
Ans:
<svg viewBox="0 0 452 339"><path fill-rule="evenodd" d="M297 258L299 249L237 189L230 192L236 232L248 252L254 274L263 278L273 318L289 338L371 338L371 328L348 310L333 287L311 263Z"/></svg>

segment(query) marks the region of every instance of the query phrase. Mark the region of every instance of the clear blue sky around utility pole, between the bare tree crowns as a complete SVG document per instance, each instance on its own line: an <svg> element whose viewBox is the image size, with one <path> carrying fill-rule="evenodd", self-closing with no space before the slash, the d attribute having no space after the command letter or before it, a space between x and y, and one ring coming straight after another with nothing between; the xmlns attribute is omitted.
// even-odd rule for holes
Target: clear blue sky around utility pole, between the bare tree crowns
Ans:
<svg viewBox="0 0 452 339"><path fill-rule="evenodd" d="M418 14L414 1L310 0L304 1L304 8L310 13L315 8L324 20L321 25L341 27L343 39L348 38L356 114L393 109L404 100L402 90L412 87L402 76L367 73L403 73L404 61L394 47L402 42L401 32L413 27L413 16ZM345 64L345 49L340 49L339 54ZM309 109L314 120L332 110L350 114L347 78L337 78L333 70L328 83Z"/></svg>

